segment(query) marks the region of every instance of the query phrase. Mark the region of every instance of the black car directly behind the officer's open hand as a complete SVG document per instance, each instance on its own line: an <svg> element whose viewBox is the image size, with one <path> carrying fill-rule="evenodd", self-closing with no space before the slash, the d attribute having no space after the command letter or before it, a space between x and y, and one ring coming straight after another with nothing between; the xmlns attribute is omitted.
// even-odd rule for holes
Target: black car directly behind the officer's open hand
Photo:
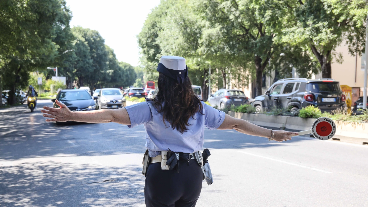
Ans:
<svg viewBox="0 0 368 207"><path fill-rule="evenodd" d="M95 110L97 97L92 97L86 90L83 89L64 89L61 90L57 95L56 99L61 103L64 103L71 111L87 111ZM59 105L53 101L54 108L60 108Z"/></svg>

